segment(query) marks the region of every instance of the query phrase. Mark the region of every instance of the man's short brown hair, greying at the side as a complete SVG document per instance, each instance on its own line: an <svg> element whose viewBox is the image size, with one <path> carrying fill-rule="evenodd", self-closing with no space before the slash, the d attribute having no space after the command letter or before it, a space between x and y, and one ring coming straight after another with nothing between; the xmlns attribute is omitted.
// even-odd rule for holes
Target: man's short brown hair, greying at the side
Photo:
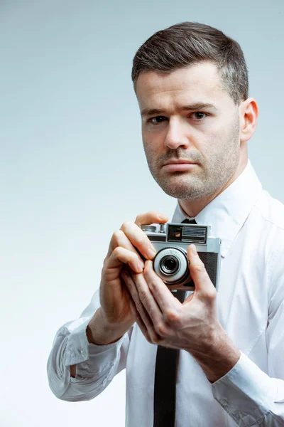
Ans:
<svg viewBox="0 0 284 427"><path fill-rule="evenodd" d="M198 22L177 23L158 31L138 48L131 75L134 90L142 72L168 74L206 60L217 65L224 90L236 105L247 99L249 73L241 46L217 28Z"/></svg>

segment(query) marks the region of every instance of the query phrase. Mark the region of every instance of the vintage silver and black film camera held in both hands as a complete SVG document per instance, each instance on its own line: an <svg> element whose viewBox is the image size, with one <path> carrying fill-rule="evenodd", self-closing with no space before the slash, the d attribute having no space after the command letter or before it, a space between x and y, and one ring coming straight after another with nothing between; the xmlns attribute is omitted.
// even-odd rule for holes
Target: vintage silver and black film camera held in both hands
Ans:
<svg viewBox="0 0 284 427"><path fill-rule="evenodd" d="M209 278L217 288L221 239L207 236L208 226L191 223L166 223L141 226L157 251L153 270L170 290L195 290L190 277L187 247L194 243Z"/></svg>

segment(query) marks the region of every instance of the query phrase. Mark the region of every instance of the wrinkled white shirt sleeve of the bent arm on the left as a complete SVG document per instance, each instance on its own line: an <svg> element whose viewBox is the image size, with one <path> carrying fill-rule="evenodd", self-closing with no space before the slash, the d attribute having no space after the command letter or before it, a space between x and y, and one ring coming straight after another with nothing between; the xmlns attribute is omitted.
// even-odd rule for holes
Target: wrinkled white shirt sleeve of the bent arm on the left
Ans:
<svg viewBox="0 0 284 427"><path fill-rule="evenodd" d="M60 327L48 358L48 382L53 394L65 401L93 399L126 366L130 332L113 344L89 344L87 325L99 308L99 291L79 319ZM76 364L76 377L70 365Z"/></svg>

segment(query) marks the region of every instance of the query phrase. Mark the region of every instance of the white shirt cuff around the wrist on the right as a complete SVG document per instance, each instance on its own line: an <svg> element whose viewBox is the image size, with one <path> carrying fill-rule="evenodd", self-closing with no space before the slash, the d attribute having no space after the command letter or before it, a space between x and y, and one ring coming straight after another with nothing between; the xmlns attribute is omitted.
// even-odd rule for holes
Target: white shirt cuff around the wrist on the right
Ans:
<svg viewBox="0 0 284 427"><path fill-rule="evenodd" d="M241 352L235 366L212 384L214 399L241 426L250 426L271 410L275 390L271 378Z"/></svg>

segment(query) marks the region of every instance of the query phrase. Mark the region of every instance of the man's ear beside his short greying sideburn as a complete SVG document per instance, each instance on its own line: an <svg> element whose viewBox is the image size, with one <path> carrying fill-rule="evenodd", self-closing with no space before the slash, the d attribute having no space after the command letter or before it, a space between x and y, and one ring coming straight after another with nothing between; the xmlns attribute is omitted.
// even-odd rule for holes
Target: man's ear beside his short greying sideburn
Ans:
<svg viewBox="0 0 284 427"><path fill-rule="evenodd" d="M256 122L258 118L258 105L256 100L249 97L239 106L240 117L240 141L246 142L251 139L256 130Z"/></svg>

